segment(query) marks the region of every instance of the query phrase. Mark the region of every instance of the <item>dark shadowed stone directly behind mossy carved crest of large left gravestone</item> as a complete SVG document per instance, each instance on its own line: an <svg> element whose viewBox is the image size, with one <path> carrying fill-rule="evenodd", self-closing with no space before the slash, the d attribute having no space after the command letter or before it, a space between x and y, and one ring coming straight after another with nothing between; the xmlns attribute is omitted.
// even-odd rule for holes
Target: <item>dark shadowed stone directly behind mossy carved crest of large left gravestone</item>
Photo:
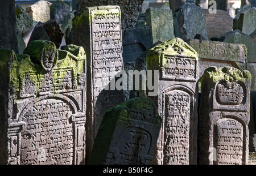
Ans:
<svg viewBox="0 0 256 176"><path fill-rule="evenodd" d="M39 22L35 26L28 44L34 40L48 40L54 42L56 47L59 48L63 37L64 32L59 24L57 24L55 20L49 20L46 23Z"/></svg>

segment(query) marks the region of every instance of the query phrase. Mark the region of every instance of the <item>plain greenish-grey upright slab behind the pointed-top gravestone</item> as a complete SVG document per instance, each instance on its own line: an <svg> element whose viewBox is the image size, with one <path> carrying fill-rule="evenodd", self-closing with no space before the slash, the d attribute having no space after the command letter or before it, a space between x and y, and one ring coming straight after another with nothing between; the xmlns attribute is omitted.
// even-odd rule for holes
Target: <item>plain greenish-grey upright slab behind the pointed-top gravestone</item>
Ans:
<svg viewBox="0 0 256 176"><path fill-rule="evenodd" d="M174 38L174 20L172 10L162 8L148 8L146 10L146 24L151 28L152 43L167 41Z"/></svg>

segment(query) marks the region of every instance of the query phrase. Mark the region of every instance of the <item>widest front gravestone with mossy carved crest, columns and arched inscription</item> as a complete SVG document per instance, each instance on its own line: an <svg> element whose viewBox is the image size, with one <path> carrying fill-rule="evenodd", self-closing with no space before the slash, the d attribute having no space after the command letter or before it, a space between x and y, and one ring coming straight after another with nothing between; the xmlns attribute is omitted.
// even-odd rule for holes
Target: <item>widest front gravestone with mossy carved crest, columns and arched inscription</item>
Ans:
<svg viewBox="0 0 256 176"><path fill-rule="evenodd" d="M82 47L32 41L1 55L3 164L84 164L86 61Z"/></svg>

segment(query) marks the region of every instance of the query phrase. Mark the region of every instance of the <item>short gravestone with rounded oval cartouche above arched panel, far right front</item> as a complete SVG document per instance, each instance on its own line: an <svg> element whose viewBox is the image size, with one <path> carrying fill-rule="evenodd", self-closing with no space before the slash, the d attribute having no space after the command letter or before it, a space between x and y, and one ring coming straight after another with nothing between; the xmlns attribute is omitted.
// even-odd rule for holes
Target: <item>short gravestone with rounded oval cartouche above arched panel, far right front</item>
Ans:
<svg viewBox="0 0 256 176"><path fill-rule="evenodd" d="M247 70L205 70L199 109L199 164L247 164L250 83Z"/></svg>

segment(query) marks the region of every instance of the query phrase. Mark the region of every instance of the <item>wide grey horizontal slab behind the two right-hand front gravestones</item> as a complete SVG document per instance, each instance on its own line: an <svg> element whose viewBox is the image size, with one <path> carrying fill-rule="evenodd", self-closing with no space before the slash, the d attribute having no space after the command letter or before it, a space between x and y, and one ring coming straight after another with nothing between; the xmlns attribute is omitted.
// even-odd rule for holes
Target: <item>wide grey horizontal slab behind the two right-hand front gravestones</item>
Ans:
<svg viewBox="0 0 256 176"><path fill-rule="evenodd" d="M245 45L229 44L219 41L189 39L186 41L199 55L199 78L210 66L218 68L231 66L247 69L247 49Z"/></svg>

